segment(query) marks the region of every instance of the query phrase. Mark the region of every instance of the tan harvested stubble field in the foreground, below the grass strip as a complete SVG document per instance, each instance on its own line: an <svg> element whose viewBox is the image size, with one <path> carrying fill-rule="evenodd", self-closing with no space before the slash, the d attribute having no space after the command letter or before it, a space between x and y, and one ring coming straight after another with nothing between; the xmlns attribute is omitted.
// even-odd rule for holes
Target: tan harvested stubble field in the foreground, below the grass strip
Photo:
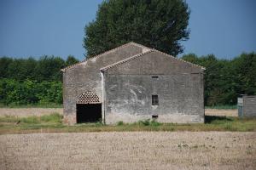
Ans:
<svg viewBox="0 0 256 170"><path fill-rule="evenodd" d="M256 133L32 133L0 136L1 169L255 169Z"/></svg>

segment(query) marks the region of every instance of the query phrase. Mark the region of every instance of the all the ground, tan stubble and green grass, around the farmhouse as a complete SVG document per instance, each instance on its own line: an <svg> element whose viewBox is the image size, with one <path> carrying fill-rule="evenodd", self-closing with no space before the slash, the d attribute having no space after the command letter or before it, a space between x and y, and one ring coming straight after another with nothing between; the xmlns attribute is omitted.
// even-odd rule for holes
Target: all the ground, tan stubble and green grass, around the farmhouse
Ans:
<svg viewBox="0 0 256 170"><path fill-rule="evenodd" d="M0 169L255 169L256 119L236 116L207 109L205 124L65 126L61 108L0 108Z"/></svg>

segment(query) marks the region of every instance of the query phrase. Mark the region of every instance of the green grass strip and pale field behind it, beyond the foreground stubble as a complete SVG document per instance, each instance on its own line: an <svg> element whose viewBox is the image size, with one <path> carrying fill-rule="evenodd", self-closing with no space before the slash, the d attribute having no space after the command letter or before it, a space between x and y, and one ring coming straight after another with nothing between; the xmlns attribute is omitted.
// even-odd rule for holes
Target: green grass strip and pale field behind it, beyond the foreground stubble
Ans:
<svg viewBox="0 0 256 170"><path fill-rule="evenodd" d="M206 110L205 123L176 124L148 120L116 126L101 122L66 126L61 108L0 108L0 134L127 131L233 131L256 132L256 118L241 119L236 110Z"/></svg>

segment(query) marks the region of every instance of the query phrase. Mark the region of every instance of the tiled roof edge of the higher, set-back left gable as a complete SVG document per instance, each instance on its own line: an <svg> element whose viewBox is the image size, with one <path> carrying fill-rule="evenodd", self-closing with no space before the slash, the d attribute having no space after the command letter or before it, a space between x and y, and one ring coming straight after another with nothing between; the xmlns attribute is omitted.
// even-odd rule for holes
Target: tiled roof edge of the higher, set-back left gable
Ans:
<svg viewBox="0 0 256 170"><path fill-rule="evenodd" d="M61 71L64 72L64 71L67 71L67 70L70 69L70 68L73 68L74 66L81 65L81 64L86 64L86 62L87 62L88 60L90 60L90 59L96 59L96 58L98 58L98 57L102 57L102 56L105 55L105 54L113 53L114 51L116 51L116 50L118 50L118 49L120 49L120 48L124 48L124 47L126 47L126 46L128 46L128 45L135 45L135 46L140 47L140 48L148 48L148 47L145 47L145 46L143 46L143 45L141 45L141 44L138 44L138 43L136 43L136 42L128 42L128 43L125 43L124 45L121 45L121 46L119 46L119 47L117 47L117 48L110 49L110 50L108 50L108 51L106 51L106 52L104 52L104 53L102 53L102 54L98 54L98 55L93 56L93 57L90 57L90 58L88 58L88 59L84 59L84 60L82 60L82 61L80 61L79 63L76 63L76 64L74 64L74 65L69 65L69 66L67 66L67 67L65 67L65 68L63 68L63 69L61 69ZM148 48L148 49L150 49L150 48Z"/></svg>

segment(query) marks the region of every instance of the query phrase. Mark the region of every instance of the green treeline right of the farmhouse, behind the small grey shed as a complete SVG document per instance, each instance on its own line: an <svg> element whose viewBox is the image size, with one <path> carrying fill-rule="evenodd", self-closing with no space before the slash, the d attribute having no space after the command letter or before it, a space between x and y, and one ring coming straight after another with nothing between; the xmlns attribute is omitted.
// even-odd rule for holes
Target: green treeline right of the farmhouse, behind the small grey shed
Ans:
<svg viewBox="0 0 256 170"><path fill-rule="evenodd" d="M206 67L205 105L235 105L240 94L256 94L256 54L241 54L234 59L217 59L214 55L183 59Z"/></svg>

